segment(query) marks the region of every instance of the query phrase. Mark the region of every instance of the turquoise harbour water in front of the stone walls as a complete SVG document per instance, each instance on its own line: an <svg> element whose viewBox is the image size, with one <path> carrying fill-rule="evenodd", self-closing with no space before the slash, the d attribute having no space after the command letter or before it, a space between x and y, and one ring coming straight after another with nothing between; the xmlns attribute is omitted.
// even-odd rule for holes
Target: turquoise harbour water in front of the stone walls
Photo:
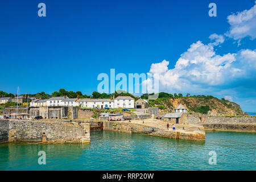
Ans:
<svg viewBox="0 0 256 182"><path fill-rule="evenodd" d="M205 142L94 131L90 144L1 144L0 170L255 170L256 134L208 132ZM46 165L38 152L46 152ZM209 152L217 164L210 165Z"/></svg>

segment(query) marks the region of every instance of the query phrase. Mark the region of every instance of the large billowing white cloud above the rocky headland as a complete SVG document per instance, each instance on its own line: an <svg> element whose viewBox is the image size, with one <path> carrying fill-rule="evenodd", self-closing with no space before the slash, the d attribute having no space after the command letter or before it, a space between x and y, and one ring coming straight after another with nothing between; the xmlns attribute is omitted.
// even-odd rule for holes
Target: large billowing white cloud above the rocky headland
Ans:
<svg viewBox="0 0 256 182"><path fill-rule="evenodd" d="M151 65L149 73L159 73L159 88L169 92L218 92L216 86L229 85L255 71L256 49L217 55L212 44L198 41L181 54L175 68L169 61ZM228 88L227 88L228 89Z"/></svg>

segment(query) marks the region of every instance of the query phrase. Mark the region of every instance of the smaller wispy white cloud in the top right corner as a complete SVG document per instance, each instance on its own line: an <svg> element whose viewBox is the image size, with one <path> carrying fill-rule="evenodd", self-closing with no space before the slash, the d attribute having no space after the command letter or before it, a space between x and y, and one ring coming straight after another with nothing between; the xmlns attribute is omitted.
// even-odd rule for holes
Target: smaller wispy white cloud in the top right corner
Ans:
<svg viewBox="0 0 256 182"><path fill-rule="evenodd" d="M255 1L256 3L256 1ZM244 10L228 16L230 29L226 32L226 36L240 41L246 36L251 39L256 38L256 5L250 10Z"/></svg>

